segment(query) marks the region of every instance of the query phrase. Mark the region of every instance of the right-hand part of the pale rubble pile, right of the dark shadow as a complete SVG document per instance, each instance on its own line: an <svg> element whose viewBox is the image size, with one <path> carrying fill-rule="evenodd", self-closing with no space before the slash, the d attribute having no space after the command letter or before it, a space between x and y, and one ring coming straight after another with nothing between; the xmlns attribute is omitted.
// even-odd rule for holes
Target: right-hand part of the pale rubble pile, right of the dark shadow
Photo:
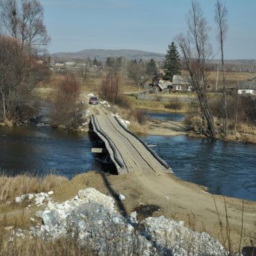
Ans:
<svg viewBox="0 0 256 256"><path fill-rule="evenodd" d="M143 221L145 237L161 248L163 255L228 255L217 239L193 232L183 221L149 217Z"/></svg>

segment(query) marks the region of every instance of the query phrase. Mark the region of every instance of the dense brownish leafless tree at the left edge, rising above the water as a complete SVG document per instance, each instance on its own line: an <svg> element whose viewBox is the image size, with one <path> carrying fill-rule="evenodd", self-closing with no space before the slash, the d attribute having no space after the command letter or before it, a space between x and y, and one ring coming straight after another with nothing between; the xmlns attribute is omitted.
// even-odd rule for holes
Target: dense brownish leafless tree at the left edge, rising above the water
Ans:
<svg viewBox="0 0 256 256"><path fill-rule="evenodd" d="M13 37L0 37L0 113L6 123L18 123L35 114L35 86L48 69L24 54Z"/></svg>

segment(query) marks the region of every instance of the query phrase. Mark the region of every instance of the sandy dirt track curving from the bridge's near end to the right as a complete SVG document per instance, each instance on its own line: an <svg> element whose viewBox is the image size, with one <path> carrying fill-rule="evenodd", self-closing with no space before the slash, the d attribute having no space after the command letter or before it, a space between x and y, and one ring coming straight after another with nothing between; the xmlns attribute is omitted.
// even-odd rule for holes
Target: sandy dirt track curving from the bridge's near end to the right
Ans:
<svg viewBox="0 0 256 256"><path fill-rule="evenodd" d="M212 237L226 244L226 212L223 196L214 195L222 227L214 205L212 194L202 186L182 181L172 174L133 172L110 175L102 172L80 174L64 188L56 191L55 199L64 201L77 190L93 187L105 194L124 194L121 210L129 214L142 205L156 205L152 216L161 216L184 221L185 226L199 232L208 232ZM237 248L241 230L242 201L226 197L228 221L232 245ZM158 210L159 209L159 210ZM222 235L221 235L222 232ZM256 244L256 203L244 201L244 235L242 245Z"/></svg>

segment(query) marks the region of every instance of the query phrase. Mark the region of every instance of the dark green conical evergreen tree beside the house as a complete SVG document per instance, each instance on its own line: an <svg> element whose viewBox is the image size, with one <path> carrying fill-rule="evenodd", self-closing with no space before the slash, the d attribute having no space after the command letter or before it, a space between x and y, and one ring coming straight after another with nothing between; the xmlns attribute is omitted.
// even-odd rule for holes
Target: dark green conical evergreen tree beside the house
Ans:
<svg viewBox="0 0 256 256"><path fill-rule="evenodd" d="M177 46L174 42L168 45L167 54L163 61L163 69L165 70L165 79L171 82L174 75L181 74L181 59Z"/></svg>

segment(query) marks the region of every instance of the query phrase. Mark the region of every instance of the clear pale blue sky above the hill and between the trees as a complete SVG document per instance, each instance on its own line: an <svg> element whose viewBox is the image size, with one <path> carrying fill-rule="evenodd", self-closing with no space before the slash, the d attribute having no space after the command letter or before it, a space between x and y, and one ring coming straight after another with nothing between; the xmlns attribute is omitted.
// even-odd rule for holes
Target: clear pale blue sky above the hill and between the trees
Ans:
<svg viewBox="0 0 256 256"><path fill-rule="evenodd" d="M50 53L86 48L136 49L165 53L185 33L190 0L41 0ZM215 0L199 0L217 53ZM226 0L227 59L256 59L256 0ZM218 57L218 56L217 56Z"/></svg>

